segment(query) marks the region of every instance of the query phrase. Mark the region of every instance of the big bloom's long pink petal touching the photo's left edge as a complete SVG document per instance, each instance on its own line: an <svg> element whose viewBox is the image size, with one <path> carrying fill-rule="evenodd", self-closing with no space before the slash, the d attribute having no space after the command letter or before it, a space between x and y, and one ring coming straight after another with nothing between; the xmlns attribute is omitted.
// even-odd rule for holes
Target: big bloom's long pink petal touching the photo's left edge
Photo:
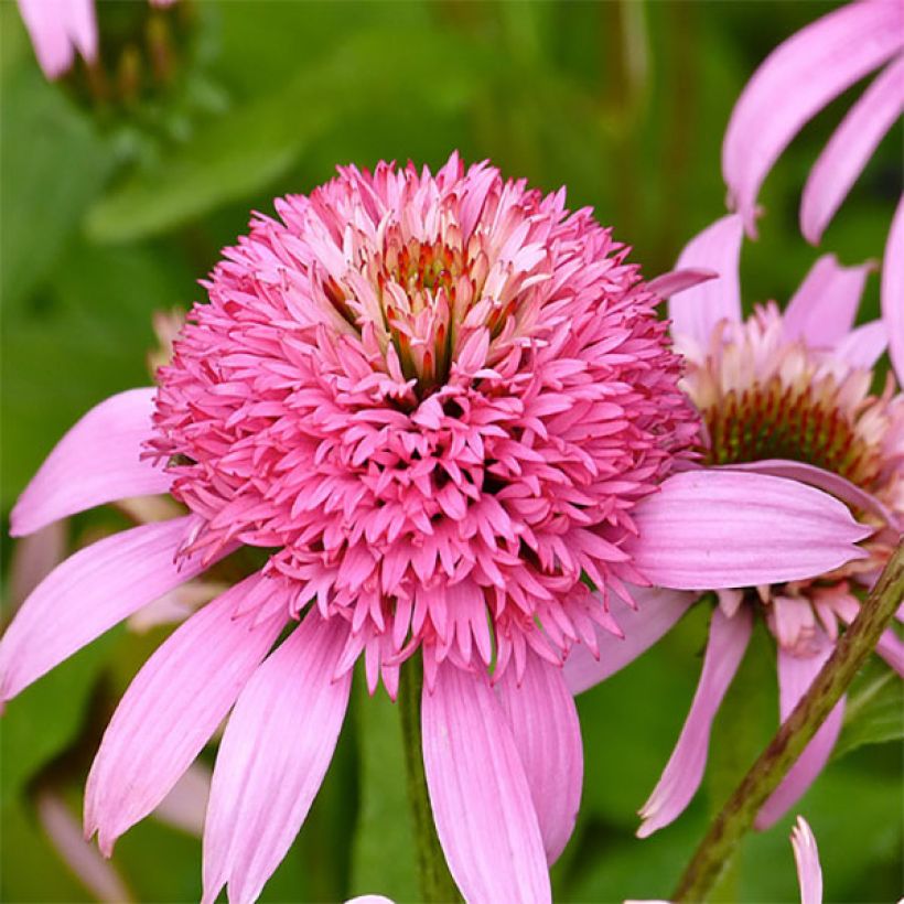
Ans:
<svg viewBox="0 0 904 904"><path fill-rule="evenodd" d="M80 549L34 590L0 641L0 700L10 700L141 606L209 563L176 566L193 516L133 527Z"/></svg>

